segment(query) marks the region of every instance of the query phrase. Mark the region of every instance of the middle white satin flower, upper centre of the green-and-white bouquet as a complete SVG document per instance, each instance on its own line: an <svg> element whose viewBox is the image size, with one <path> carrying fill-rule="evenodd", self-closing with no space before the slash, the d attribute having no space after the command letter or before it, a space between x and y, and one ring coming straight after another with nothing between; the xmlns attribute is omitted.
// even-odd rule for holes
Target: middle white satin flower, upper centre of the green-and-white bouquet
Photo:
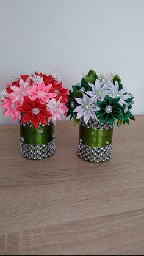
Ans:
<svg viewBox="0 0 144 256"><path fill-rule="evenodd" d="M92 97L92 100L95 100L95 104L97 101L103 101L106 95L111 96L111 91L109 90L110 84L103 84L98 79L96 79L95 86L93 84L89 84L92 87L92 90L88 90L87 95Z"/></svg>

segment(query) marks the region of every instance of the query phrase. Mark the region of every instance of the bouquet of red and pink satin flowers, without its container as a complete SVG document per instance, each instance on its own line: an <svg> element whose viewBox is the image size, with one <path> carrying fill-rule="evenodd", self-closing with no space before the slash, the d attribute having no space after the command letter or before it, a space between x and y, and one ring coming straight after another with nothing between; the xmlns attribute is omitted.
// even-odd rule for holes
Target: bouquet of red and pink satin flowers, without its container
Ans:
<svg viewBox="0 0 144 256"><path fill-rule="evenodd" d="M39 123L56 124L67 115L68 89L63 88L59 73L51 75L34 72L32 75L14 75L0 92L4 116L21 123L31 122L35 129Z"/></svg>

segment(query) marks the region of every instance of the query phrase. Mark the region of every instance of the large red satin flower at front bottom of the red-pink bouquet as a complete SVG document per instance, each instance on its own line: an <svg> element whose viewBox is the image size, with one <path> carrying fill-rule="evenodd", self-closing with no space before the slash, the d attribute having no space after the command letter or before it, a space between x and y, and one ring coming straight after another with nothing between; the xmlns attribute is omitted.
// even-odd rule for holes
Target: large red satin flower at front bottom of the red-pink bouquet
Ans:
<svg viewBox="0 0 144 256"><path fill-rule="evenodd" d="M48 122L46 118L52 116L52 114L46 110L46 104L40 104L38 98L33 101L29 97L25 97L23 104L18 109L25 114L21 123L31 121L35 129L38 129L39 122L43 123L43 125L47 125Z"/></svg>

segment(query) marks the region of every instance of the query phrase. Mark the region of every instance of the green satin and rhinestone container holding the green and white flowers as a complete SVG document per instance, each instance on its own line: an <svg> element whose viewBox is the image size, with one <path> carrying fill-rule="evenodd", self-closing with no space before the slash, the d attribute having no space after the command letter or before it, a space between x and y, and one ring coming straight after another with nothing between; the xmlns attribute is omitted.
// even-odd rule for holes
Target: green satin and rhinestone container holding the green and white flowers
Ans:
<svg viewBox="0 0 144 256"><path fill-rule="evenodd" d="M113 125L101 124L99 120L90 119L79 125L79 142L77 155L86 161L104 162L112 157Z"/></svg>

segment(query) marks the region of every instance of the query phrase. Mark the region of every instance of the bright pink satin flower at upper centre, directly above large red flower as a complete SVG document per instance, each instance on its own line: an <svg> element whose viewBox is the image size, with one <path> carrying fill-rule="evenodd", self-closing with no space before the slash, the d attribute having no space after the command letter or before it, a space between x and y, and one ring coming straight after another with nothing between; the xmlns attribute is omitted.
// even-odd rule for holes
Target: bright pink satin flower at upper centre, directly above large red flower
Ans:
<svg viewBox="0 0 144 256"><path fill-rule="evenodd" d="M48 86L45 86L44 82L40 82L40 84L33 84L32 90L30 90L31 93L31 100L35 100L36 98L39 98L41 104L45 104L46 100L49 100L50 98L54 98L57 96L56 93L49 92L51 89L52 84L48 84Z"/></svg>

